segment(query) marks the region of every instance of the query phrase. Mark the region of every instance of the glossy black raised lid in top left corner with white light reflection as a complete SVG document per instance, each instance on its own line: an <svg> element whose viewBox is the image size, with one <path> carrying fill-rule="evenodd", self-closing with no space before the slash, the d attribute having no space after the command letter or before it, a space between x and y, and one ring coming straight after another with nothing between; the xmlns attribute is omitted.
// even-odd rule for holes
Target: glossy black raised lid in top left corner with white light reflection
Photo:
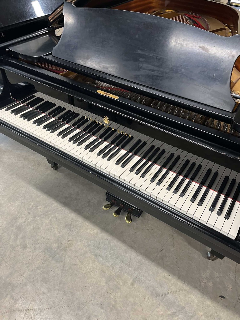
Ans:
<svg viewBox="0 0 240 320"><path fill-rule="evenodd" d="M63 0L11 0L1 5L0 30L14 24L46 16L57 9Z"/></svg>

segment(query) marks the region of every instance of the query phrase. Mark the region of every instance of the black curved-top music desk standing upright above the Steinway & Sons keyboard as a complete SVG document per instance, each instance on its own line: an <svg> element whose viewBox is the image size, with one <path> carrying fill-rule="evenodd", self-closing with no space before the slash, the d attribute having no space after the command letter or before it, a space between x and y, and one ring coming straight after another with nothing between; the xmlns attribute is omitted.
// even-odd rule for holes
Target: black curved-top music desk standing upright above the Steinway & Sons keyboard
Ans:
<svg viewBox="0 0 240 320"><path fill-rule="evenodd" d="M222 37L177 21L65 3L52 56L176 97L232 112L230 77L240 35Z"/></svg>

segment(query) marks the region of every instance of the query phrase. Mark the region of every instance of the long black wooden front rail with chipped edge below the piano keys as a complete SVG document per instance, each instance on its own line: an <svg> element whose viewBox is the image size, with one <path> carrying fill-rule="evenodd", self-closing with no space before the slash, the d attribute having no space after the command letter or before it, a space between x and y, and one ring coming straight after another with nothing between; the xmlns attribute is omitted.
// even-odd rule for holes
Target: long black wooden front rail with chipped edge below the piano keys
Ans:
<svg viewBox="0 0 240 320"><path fill-rule="evenodd" d="M101 188L105 190L111 189L113 193L125 201L240 264L240 242L238 240L224 236L207 226L204 227L198 221L190 219L173 208L125 185L124 182L80 162L73 156L32 137L2 120L0 120L0 132Z"/></svg>

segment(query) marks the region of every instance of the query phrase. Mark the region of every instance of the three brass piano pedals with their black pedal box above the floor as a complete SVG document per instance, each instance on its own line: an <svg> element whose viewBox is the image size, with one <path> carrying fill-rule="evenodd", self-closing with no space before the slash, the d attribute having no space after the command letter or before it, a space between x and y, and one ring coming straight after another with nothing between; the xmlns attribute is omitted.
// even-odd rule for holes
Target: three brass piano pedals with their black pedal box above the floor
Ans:
<svg viewBox="0 0 240 320"><path fill-rule="evenodd" d="M113 205L116 205L118 208L113 212L113 215L115 217L118 217L122 210L127 212L127 214L125 216L125 221L127 223L131 223L132 222L131 215L139 218L141 213L142 213L142 210L140 210L139 208L135 207L132 204L129 204L126 201L123 201L122 199L118 198L117 196L114 196L113 194L111 194L110 192L106 192L106 201L108 201L110 203L109 204L105 204L103 206L103 209L104 210L108 210Z"/></svg>

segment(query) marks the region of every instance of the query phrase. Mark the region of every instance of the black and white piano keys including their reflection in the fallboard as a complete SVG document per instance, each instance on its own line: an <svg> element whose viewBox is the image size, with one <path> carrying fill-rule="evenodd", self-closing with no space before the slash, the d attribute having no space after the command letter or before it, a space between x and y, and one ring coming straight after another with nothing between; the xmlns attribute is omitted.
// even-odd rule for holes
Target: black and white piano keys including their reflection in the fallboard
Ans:
<svg viewBox="0 0 240 320"><path fill-rule="evenodd" d="M240 173L111 121L103 126L102 117L40 92L1 108L0 119L225 236L238 234Z"/></svg>

